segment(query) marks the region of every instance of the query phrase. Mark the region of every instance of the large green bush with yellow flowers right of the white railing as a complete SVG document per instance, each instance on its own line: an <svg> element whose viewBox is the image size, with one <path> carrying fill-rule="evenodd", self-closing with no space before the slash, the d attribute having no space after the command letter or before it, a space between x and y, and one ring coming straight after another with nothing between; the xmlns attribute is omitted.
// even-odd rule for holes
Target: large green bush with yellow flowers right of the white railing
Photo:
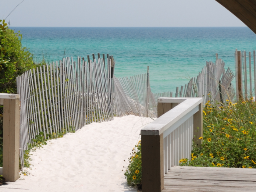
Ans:
<svg viewBox="0 0 256 192"><path fill-rule="evenodd" d="M208 101L203 111L201 148L193 148L191 161L181 166L256 168L256 103L248 101L223 106Z"/></svg>

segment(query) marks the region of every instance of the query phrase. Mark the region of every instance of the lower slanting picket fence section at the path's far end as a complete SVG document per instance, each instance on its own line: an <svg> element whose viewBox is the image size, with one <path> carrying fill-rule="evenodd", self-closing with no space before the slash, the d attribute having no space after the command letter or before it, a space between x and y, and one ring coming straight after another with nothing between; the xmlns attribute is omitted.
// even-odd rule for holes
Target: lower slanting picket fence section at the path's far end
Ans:
<svg viewBox="0 0 256 192"><path fill-rule="evenodd" d="M116 115L157 117L157 100L150 89L149 67L147 74L114 78L114 84Z"/></svg>

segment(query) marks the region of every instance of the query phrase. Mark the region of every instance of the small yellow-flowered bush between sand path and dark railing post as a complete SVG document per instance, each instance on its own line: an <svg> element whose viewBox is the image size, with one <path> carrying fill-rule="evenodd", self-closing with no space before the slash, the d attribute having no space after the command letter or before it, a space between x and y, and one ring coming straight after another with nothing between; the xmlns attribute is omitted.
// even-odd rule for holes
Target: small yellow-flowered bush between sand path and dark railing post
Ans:
<svg viewBox="0 0 256 192"><path fill-rule="evenodd" d="M141 184L141 141L132 149L129 165L125 170L125 178L127 183L132 186Z"/></svg>

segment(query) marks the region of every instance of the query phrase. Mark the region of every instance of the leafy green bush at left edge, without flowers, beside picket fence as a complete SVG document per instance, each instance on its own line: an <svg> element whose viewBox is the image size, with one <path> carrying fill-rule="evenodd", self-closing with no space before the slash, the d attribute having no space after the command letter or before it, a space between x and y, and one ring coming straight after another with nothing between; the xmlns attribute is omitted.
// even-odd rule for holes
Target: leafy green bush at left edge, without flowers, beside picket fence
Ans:
<svg viewBox="0 0 256 192"><path fill-rule="evenodd" d="M22 47L22 35L0 20L0 93L17 93L16 77L35 68L32 54ZM0 106L0 167L3 162L3 106Z"/></svg>

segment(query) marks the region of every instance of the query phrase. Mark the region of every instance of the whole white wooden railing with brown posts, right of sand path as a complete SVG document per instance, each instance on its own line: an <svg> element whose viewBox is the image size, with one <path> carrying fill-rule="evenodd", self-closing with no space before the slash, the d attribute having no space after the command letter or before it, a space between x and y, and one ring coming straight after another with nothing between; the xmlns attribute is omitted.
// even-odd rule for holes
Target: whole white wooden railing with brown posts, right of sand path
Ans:
<svg viewBox="0 0 256 192"><path fill-rule="evenodd" d="M203 134L203 98L158 99L157 118L141 130L143 192L161 192L164 173L190 159Z"/></svg>

